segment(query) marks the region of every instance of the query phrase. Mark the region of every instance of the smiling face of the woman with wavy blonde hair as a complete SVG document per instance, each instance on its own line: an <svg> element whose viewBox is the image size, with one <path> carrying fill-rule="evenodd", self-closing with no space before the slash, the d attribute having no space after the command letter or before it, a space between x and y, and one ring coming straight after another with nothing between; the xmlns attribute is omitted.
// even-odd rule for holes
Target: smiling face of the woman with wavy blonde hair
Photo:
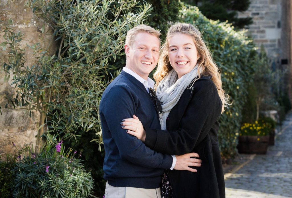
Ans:
<svg viewBox="0 0 292 198"><path fill-rule="evenodd" d="M192 37L177 33L169 39L168 46L169 62L178 73L178 78L189 73L199 59Z"/></svg>

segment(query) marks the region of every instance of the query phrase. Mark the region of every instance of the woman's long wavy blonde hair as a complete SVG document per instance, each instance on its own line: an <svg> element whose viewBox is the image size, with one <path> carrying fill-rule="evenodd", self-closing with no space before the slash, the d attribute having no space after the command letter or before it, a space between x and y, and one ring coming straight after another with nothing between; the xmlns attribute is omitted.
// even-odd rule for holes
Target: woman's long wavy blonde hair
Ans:
<svg viewBox="0 0 292 198"><path fill-rule="evenodd" d="M221 111L221 113L223 113L225 110L225 107L227 107L227 105L230 105L229 95L225 94L225 91L222 89L220 71L218 67L216 66L216 64L214 63L214 61L212 60L210 51L206 47L205 42L202 39L201 32L197 29L197 27L191 24L175 23L168 29L166 41L161 46L161 49L160 49L160 57L158 61L157 70L153 75L157 85L168 74L168 72L173 69L169 62L168 47L169 47L169 39L175 34L189 35L194 39L194 44L197 48L197 53L200 57L197 61L197 63L199 63L198 70L202 71L201 74L198 74L198 77L195 80L199 79L201 76L212 77L211 79L213 80L214 84L217 87L219 97L223 104L222 111Z"/></svg>

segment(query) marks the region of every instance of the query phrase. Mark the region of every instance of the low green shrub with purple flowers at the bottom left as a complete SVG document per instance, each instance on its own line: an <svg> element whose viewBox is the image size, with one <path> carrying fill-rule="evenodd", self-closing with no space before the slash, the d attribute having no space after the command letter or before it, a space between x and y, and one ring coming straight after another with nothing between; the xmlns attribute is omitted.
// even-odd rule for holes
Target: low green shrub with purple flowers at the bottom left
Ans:
<svg viewBox="0 0 292 198"><path fill-rule="evenodd" d="M88 197L93 190L91 174L84 170L77 151L68 149L48 135L39 155L29 153L16 163L13 197Z"/></svg>

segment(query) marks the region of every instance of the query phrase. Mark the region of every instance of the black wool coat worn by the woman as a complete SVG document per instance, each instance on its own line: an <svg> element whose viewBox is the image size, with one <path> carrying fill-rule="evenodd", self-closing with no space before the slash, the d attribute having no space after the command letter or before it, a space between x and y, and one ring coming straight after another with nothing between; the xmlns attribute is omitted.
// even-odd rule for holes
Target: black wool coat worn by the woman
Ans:
<svg viewBox="0 0 292 198"><path fill-rule="evenodd" d="M175 198L223 198L224 174L218 143L218 117L222 101L211 77L198 79L186 89L166 119L164 130L146 130L146 146L155 151L182 155L198 153L198 171L168 170Z"/></svg>

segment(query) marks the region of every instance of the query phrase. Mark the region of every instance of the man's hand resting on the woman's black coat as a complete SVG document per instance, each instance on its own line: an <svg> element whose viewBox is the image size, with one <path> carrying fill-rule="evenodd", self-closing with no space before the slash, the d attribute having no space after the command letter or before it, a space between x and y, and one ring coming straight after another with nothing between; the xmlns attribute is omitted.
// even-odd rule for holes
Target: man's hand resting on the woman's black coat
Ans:
<svg viewBox="0 0 292 198"><path fill-rule="evenodd" d="M202 160L191 158L191 157L200 157L197 153L187 153L184 155L176 155L176 163L173 169L179 170L179 171L191 171L191 172L197 172L197 169L190 168L188 166L201 166Z"/></svg>

